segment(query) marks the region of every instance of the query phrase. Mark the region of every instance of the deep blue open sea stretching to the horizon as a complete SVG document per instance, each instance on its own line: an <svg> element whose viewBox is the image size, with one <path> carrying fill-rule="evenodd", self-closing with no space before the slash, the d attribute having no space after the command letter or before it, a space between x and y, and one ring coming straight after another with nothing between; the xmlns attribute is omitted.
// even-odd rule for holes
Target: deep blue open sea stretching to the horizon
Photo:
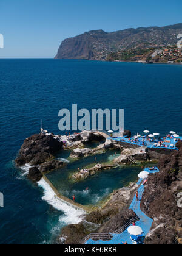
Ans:
<svg viewBox="0 0 182 256"><path fill-rule="evenodd" d="M133 133L181 134L181 74L182 65L0 59L0 243L54 243L61 227L72 222L69 209L53 207L49 191L13 165L24 139L39 132L41 119L45 129L60 133L61 108L124 108L125 128ZM100 176L109 193L114 187L104 177L116 180L111 176Z"/></svg>

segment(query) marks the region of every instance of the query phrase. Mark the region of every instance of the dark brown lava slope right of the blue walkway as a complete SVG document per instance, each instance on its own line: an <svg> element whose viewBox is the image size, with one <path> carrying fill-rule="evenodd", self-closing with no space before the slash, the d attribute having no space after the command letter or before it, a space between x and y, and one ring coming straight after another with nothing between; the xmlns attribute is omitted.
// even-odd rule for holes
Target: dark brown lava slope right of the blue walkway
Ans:
<svg viewBox="0 0 182 256"><path fill-rule="evenodd" d="M147 235L147 244L182 243L182 208L178 207L178 193L182 188L182 143L179 151L161 158L160 173L149 176L148 185L141 200L141 208L154 220Z"/></svg>

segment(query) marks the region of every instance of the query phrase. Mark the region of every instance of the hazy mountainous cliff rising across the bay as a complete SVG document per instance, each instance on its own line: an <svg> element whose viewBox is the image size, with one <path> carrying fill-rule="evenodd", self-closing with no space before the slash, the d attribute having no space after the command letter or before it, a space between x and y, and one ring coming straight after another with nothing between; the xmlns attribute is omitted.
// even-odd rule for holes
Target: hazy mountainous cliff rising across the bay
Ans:
<svg viewBox="0 0 182 256"><path fill-rule="evenodd" d="M92 30L62 41L56 59L106 59L107 54L126 49L177 44L182 23L166 27L139 27L117 32Z"/></svg>

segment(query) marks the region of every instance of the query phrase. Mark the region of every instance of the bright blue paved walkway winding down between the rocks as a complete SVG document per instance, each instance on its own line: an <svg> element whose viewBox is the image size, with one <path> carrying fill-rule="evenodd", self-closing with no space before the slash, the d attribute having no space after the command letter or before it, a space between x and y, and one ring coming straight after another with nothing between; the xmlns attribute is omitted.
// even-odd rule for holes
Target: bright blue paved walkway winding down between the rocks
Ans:
<svg viewBox="0 0 182 256"><path fill-rule="evenodd" d="M149 172L150 174L153 174L155 172L159 172L158 168L156 167L155 170L150 170L149 167L144 168L144 171ZM153 220L147 217L140 209L140 202L141 198L143 196L144 192L144 186L141 184L143 179L138 180L138 185L140 186L138 188L138 201L136 201L136 196L133 198L132 203L130 204L129 209L132 209L136 215L140 218L139 221L136 222L137 226L140 226L141 229L143 230L143 236L146 236L147 233L149 233L152 222ZM94 241L92 238L86 241L86 244L122 244L122 242L127 242L127 244L132 244L132 240L130 239L130 234L127 232L127 227L124 230L124 232L118 234L118 233L110 233L112 235L112 240L110 241L103 241L103 240L98 240ZM92 237L92 235L90 235Z"/></svg>

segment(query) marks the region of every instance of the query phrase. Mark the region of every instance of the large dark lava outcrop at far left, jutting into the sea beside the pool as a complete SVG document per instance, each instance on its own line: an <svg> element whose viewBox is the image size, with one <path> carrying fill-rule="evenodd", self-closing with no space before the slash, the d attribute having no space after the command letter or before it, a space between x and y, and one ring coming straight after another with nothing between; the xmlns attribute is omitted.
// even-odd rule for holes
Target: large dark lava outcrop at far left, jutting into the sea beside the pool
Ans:
<svg viewBox="0 0 182 256"><path fill-rule="evenodd" d="M30 163L39 165L47 160L54 158L53 154L62 149L62 142L55 140L52 135L46 136L42 133L32 135L22 144L19 157L15 163L18 166Z"/></svg>

